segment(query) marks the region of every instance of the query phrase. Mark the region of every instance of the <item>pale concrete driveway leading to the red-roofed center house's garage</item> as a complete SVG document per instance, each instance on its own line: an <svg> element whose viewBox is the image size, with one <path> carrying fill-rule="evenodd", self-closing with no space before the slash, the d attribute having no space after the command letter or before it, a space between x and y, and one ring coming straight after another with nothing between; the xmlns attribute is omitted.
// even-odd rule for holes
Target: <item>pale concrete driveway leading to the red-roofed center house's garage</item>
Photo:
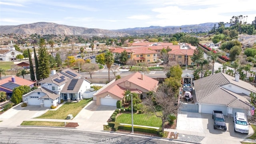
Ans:
<svg viewBox="0 0 256 144"><path fill-rule="evenodd" d="M96 105L93 100L72 121L78 122L79 126L76 128L101 131L115 110L116 106Z"/></svg>

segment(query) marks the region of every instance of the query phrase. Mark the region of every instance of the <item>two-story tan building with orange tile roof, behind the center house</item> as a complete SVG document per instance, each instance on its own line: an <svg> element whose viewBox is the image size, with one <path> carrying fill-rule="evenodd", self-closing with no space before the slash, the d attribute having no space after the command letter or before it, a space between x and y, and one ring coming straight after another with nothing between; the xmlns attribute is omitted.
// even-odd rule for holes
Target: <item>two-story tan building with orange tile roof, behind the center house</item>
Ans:
<svg viewBox="0 0 256 144"><path fill-rule="evenodd" d="M130 49L130 48L115 48L111 52L114 56L120 55L121 52L126 50L128 55L128 64L132 63L152 63L158 61L157 52L148 49Z"/></svg>

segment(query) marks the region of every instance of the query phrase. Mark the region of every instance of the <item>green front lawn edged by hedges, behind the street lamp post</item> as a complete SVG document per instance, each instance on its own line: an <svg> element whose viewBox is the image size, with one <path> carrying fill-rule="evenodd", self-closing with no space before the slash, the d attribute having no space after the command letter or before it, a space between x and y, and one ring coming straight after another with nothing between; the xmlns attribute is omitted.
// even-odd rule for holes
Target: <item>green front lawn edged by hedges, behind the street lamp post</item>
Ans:
<svg viewBox="0 0 256 144"><path fill-rule="evenodd" d="M116 122L120 122L122 124L132 124L132 114L123 113L116 118ZM155 126L155 127L162 126L161 118L157 118L156 115L147 115L147 114L133 114L133 123L135 125L142 125L142 126Z"/></svg>

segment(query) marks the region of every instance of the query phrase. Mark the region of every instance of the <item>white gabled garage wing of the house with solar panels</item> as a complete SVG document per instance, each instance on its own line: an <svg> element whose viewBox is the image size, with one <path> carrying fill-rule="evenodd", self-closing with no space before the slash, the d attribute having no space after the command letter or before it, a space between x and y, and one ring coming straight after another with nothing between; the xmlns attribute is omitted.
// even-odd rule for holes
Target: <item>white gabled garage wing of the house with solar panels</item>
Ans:
<svg viewBox="0 0 256 144"><path fill-rule="evenodd" d="M24 103L28 105L39 105L41 107L57 106L60 95L44 87L29 92L22 96Z"/></svg>

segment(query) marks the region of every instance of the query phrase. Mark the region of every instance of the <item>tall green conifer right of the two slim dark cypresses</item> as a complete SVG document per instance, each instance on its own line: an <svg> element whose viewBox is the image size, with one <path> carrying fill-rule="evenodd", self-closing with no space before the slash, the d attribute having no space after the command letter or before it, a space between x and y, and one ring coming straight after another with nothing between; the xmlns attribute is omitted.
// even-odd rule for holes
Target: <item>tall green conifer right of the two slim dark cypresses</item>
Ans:
<svg viewBox="0 0 256 144"><path fill-rule="evenodd" d="M39 72L40 80L48 78L50 75L49 54L47 52L46 42L44 38L41 38L39 41L38 72Z"/></svg>

